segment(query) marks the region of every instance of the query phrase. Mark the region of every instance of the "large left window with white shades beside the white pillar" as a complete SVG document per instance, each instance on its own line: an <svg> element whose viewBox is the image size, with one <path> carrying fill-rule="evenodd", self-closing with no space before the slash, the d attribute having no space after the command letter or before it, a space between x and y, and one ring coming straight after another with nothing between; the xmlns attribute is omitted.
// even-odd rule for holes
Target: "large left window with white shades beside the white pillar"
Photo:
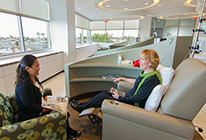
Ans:
<svg viewBox="0 0 206 140"><path fill-rule="evenodd" d="M48 0L0 0L0 55L49 48Z"/></svg>

